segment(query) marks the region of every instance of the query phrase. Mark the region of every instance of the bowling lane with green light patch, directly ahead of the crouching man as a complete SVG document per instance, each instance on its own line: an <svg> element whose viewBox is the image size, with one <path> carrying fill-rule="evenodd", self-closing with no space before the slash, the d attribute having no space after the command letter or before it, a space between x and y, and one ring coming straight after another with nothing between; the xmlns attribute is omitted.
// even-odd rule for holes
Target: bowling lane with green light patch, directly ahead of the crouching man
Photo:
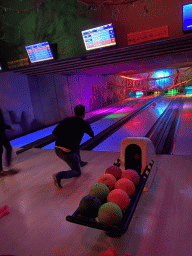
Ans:
<svg viewBox="0 0 192 256"><path fill-rule="evenodd" d="M97 135L98 133L102 132L104 129L108 128L112 124L116 123L118 120L122 119L124 116L134 112L138 108L140 108L142 105L150 101L153 97L142 97L141 99L138 99L138 101L133 102L131 105L128 105L126 107L121 108L115 108L113 114L107 115L104 118L94 122L91 124L91 127L94 131L94 134ZM87 134L84 134L83 139L81 141L81 144L89 140L90 137ZM44 149L54 149L55 142L46 145L43 147Z"/></svg>

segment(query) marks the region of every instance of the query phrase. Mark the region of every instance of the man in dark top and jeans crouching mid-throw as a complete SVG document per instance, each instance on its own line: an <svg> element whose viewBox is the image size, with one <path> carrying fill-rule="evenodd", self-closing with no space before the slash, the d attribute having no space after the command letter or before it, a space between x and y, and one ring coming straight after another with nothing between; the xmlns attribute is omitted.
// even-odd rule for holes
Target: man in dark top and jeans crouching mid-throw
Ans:
<svg viewBox="0 0 192 256"><path fill-rule="evenodd" d="M90 124L84 120L85 106L77 105L74 112L75 116L65 118L53 130L53 134L57 137L55 153L71 168L69 171L61 171L52 175L55 185L59 188L62 188L61 179L81 175L81 167L85 166L87 162L81 161L80 143L84 133L90 137L94 136Z"/></svg>

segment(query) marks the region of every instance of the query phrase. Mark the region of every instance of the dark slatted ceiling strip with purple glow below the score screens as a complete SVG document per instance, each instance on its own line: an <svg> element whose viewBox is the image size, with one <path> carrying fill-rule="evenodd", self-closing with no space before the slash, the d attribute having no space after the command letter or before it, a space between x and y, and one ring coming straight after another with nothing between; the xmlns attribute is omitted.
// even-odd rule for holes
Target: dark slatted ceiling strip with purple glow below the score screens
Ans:
<svg viewBox="0 0 192 256"><path fill-rule="evenodd" d="M62 75L132 75L162 68L192 65L192 35L152 43L116 48L70 59L47 61L12 69L33 76Z"/></svg>

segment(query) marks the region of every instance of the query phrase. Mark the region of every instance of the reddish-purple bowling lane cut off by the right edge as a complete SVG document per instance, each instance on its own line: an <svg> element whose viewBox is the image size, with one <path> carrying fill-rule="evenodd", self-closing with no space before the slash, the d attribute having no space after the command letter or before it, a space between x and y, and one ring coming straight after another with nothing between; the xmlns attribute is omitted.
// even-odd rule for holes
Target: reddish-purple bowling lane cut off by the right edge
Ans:
<svg viewBox="0 0 192 256"><path fill-rule="evenodd" d="M174 143L173 155L192 155L192 95L183 98L185 103Z"/></svg>

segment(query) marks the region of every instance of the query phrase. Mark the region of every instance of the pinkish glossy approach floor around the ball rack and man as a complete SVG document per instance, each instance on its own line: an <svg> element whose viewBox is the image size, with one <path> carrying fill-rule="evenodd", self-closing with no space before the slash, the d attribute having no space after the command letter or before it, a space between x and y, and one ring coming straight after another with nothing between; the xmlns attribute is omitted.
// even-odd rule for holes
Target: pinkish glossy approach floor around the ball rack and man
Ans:
<svg viewBox="0 0 192 256"><path fill-rule="evenodd" d="M155 156L148 192L118 237L66 220L120 152L81 150L81 156L88 161L82 175L62 180L63 188L57 189L51 176L68 166L54 149L18 154L18 172L0 177L0 204L10 210L0 219L0 255L97 256L109 248L120 256L191 255L191 155Z"/></svg>

